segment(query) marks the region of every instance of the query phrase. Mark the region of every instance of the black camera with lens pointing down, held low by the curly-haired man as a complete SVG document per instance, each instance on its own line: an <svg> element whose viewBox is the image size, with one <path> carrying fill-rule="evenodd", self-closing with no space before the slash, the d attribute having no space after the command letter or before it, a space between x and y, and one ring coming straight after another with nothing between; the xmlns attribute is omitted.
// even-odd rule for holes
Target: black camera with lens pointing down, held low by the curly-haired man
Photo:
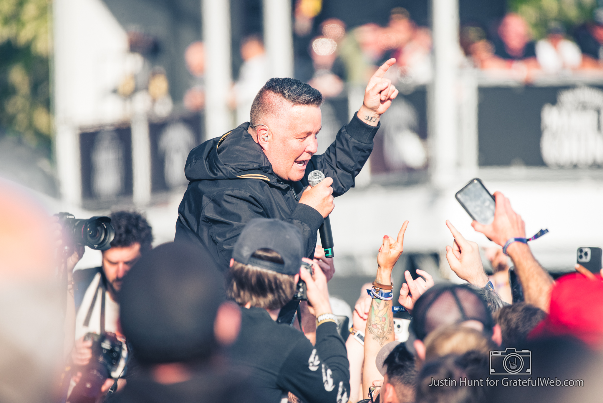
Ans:
<svg viewBox="0 0 603 403"><path fill-rule="evenodd" d="M121 361L122 344L115 334L87 333L84 341L92 340L92 358L81 370L81 379L69 395L71 403L92 403L101 394L101 387Z"/></svg>

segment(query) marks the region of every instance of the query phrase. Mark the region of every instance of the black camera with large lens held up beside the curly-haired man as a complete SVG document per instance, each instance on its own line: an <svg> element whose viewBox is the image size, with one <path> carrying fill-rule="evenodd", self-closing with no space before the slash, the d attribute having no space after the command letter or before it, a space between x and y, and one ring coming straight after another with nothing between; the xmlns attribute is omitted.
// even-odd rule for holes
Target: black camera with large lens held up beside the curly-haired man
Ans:
<svg viewBox="0 0 603 403"><path fill-rule="evenodd" d="M106 216L94 216L89 219L77 219L73 214L58 213L58 224L63 227L65 242L72 245L84 245L90 249L106 251L111 248L115 237L115 228Z"/></svg>

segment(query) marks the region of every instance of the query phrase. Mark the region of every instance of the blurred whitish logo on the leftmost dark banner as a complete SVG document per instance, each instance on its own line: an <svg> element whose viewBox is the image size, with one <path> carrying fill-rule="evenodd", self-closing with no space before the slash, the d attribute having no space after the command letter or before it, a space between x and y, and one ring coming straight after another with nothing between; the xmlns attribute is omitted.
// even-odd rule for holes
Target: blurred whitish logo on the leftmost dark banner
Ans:
<svg viewBox="0 0 603 403"><path fill-rule="evenodd" d="M124 189L124 149L115 131L96 135L92 146L92 192L101 199L118 196Z"/></svg>

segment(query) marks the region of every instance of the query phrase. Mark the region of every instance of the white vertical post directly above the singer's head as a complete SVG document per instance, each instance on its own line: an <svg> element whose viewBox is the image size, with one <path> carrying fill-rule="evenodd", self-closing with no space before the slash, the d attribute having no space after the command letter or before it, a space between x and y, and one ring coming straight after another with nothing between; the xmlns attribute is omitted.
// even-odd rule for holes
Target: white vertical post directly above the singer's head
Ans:
<svg viewBox="0 0 603 403"><path fill-rule="evenodd" d="M264 44L271 77L293 77L291 1L264 0Z"/></svg>

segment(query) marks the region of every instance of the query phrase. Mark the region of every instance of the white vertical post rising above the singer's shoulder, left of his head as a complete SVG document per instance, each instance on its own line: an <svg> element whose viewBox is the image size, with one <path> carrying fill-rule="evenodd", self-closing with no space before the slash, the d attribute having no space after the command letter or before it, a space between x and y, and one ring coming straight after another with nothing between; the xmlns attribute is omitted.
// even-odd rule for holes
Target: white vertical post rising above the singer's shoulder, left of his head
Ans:
<svg viewBox="0 0 603 403"><path fill-rule="evenodd" d="M227 97L230 65L230 1L201 0L205 45L205 140L233 129Z"/></svg>

